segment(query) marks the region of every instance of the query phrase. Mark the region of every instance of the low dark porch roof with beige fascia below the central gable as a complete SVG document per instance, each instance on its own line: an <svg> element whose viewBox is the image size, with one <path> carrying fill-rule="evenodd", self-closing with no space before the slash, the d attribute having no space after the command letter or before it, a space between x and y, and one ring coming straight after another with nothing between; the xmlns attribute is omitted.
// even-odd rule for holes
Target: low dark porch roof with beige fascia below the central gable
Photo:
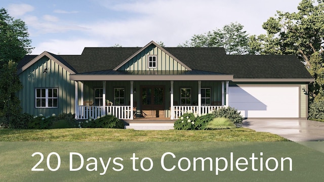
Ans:
<svg viewBox="0 0 324 182"><path fill-rule="evenodd" d="M160 70L117 71L102 70L71 74L71 80L232 80L233 75L211 71Z"/></svg>

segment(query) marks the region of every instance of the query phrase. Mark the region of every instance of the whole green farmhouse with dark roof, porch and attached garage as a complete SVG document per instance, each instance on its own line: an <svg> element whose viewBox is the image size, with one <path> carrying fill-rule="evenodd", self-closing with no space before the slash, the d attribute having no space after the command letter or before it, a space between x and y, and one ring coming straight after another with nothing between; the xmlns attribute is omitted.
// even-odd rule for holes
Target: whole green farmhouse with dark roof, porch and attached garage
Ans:
<svg viewBox="0 0 324 182"><path fill-rule="evenodd" d="M307 118L312 76L293 55L226 55L223 48L85 48L18 64L23 112L77 119L177 119L231 106L246 118Z"/></svg>

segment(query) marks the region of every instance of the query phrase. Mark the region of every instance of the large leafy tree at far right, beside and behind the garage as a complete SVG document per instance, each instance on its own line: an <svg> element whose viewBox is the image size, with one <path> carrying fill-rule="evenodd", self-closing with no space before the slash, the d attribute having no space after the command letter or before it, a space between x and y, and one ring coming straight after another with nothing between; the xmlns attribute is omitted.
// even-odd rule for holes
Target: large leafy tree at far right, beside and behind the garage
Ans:
<svg viewBox="0 0 324 182"><path fill-rule="evenodd" d="M262 26L267 34L251 36L249 45L257 54L295 54L315 78L310 99L324 99L324 1L302 0L297 9L277 11Z"/></svg>

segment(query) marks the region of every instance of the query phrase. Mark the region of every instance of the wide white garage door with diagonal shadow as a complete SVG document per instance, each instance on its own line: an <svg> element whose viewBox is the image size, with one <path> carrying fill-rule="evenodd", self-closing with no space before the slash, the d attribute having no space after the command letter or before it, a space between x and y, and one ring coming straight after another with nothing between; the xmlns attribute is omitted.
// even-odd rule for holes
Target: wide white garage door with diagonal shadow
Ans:
<svg viewBox="0 0 324 182"><path fill-rule="evenodd" d="M243 117L299 117L297 86L230 86L229 106Z"/></svg>

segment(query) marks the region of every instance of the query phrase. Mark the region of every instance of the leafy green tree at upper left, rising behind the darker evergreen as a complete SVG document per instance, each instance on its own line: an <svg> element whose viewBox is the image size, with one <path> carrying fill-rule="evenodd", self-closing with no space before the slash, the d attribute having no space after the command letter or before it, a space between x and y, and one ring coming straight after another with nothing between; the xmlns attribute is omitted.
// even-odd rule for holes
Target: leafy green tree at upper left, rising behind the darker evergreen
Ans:
<svg viewBox="0 0 324 182"><path fill-rule="evenodd" d="M0 9L0 68L9 60L20 61L31 53L31 40L27 26L20 19L13 19L6 9Z"/></svg>

